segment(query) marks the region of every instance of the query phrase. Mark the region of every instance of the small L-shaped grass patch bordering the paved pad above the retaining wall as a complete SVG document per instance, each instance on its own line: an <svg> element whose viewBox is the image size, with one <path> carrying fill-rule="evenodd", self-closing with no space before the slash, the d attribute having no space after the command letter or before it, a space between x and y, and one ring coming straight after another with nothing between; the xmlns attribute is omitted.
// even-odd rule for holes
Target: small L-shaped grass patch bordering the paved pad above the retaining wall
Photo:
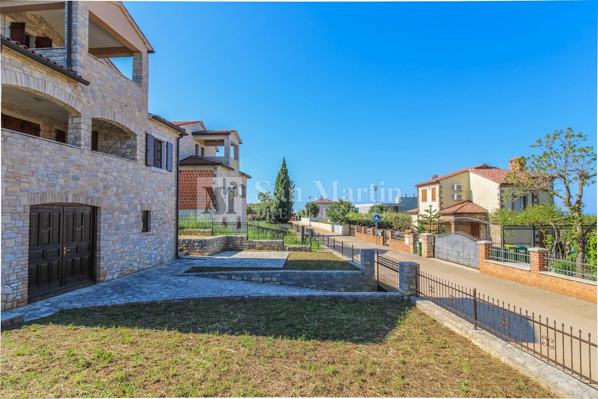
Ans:
<svg viewBox="0 0 598 399"><path fill-rule="evenodd" d="M236 272L248 270L359 270L358 267L353 266L349 262L341 260L330 252L289 252L289 257L286 258L285 266L282 269L274 269L273 267L209 267L196 266L187 270L187 273L203 273L203 272Z"/></svg>

